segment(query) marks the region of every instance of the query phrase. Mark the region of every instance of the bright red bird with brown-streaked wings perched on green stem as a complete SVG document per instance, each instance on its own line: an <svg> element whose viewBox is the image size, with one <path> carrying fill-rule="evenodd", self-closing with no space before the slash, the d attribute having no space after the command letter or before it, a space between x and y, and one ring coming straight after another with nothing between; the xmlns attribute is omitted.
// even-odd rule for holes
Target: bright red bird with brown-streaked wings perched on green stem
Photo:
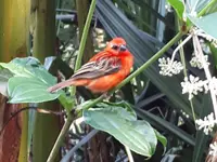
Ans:
<svg viewBox="0 0 217 162"><path fill-rule="evenodd" d="M55 92L69 85L86 86L92 93L104 93L115 87L130 72L133 56L123 38L114 38L106 48L81 66L71 79L48 89Z"/></svg>

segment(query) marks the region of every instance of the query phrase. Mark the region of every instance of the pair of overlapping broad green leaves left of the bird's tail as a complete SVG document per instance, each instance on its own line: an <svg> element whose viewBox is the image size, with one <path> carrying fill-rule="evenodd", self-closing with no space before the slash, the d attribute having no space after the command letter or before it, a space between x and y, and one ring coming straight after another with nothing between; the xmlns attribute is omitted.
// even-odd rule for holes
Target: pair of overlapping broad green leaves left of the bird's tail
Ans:
<svg viewBox="0 0 217 162"><path fill-rule="evenodd" d="M56 83L56 78L34 57L15 58L8 64L0 63L0 66L14 73L8 82L10 103L42 103L53 100L61 94L47 91Z"/></svg>

